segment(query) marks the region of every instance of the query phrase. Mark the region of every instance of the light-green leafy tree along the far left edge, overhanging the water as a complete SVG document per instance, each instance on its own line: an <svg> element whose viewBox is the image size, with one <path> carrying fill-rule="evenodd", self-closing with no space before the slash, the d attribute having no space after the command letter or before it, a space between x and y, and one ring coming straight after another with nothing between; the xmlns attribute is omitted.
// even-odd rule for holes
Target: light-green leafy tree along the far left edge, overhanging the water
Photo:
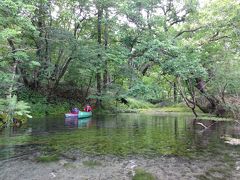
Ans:
<svg viewBox="0 0 240 180"><path fill-rule="evenodd" d="M32 26L29 19L25 19L29 13L34 11L35 7L25 4L23 1L4 0L0 4L0 71L2 80L0 111L7 113L7 126L12 123L14 113L28 115L24 102L17 102L15 92L19 88L19 77L21 77L20 68L23 64L38 66L39 64L29 58L30 46L26 45L26 34L37 35L36 29ZM17 106L17 107L14 107ZM16 111L19 109L19 111Z"/></svg>

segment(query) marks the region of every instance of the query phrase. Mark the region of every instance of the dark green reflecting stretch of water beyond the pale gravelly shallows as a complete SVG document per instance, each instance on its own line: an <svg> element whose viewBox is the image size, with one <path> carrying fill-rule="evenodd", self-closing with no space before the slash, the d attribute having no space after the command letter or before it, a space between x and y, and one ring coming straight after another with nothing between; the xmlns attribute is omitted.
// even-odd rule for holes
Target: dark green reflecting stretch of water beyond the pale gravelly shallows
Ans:
<svg viewBox="0 0 240 180"><path fill-rule="evenodd" d="M203 125L208 127L204 128ZM223 157L238 154L221 138L240 136L231 122L195 121L190 116L119 114L85 119L47 117L32 119L20 129L0 135L0 159L30 155L44 149L89 154ZM235 131L233 131L233 129Z"/></svg>

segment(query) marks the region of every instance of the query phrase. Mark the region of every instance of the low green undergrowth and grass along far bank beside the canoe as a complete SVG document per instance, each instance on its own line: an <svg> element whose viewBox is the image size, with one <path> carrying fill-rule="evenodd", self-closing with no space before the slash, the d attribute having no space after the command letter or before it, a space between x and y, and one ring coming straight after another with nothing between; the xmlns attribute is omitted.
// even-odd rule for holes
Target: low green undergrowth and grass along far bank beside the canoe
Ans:
<svg viewBox="0 0 240 180"><path fill-rule="evenodd" d="M61 115L66 112L69 112L73 107L83 109L84 101L86 99L66 99L60 97L54 97L51 100L39 92L30 91L25 89L18 94L19 100L23 100L29 104L31 107L31 115L34 118L52 116L52 115ZM185 104L173 104L168 106L161 106L160 104L152 104L150 102L134 99L128 97L125 99L126 102L121 103L114 98L109 98L107 100L102 100L101 109L94 109L95 113L138 113L138 112L149 112L151 109L153 111L161 112L191 112Z"/></svg>

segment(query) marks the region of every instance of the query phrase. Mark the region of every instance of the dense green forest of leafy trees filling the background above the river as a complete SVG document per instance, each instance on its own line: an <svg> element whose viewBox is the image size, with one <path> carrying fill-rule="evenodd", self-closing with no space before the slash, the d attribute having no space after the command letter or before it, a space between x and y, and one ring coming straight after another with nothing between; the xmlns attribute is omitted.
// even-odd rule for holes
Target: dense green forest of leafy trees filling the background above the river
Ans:
<svg viewBox="0 0 240 180"><path fill-rule="evenodd" d="M129 99L239 118L239 67L238 0L0 2L0 112L9 119Z"/></svg>

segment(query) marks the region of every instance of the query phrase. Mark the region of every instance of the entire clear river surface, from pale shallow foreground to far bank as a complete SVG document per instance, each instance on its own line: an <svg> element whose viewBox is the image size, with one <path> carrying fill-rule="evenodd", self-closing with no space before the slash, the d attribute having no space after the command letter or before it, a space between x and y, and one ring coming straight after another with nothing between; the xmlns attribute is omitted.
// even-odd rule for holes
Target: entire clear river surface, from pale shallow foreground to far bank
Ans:
<svg viewBox="0 0 240 180"><path fill-rule="evenodd" d="M131 179L136 169L155 179L240 179L240 145L226 137L239 139L240 125L183 114L31 119L1 131L0 179Z"/></svg>

